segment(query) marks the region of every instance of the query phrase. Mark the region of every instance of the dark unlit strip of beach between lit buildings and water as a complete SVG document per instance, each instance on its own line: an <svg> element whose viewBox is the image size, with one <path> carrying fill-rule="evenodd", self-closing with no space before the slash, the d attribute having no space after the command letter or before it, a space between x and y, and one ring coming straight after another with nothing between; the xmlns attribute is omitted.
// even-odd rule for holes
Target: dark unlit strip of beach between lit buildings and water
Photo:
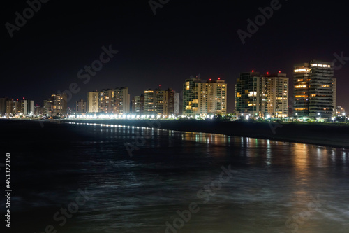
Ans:
<svg viewBox="0 0 349 233"><path fill-rule="evenodd" d="M220 122L216 120L64 120L65 122L98 123L154 127L180 132L200 132L306 143L335 148L349 148L349 125L299 124L277 122Z"/></svg>

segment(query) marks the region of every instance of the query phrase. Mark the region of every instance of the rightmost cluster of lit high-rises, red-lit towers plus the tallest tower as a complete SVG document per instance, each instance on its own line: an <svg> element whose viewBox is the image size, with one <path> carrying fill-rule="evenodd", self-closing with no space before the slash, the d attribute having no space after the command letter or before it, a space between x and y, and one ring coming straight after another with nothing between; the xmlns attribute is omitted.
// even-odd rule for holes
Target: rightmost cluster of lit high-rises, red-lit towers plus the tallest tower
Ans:
<svg viewBox="0 0 349 233"><path fill-rule="evenodd" d="M293 97L284 73L240 73L235 85L237 115L262 118L332 118L336 111L334 64L312 60L295 64ZM292 114L289 99L294 103ZM345 111L343 115L345 115Z"/></svg>

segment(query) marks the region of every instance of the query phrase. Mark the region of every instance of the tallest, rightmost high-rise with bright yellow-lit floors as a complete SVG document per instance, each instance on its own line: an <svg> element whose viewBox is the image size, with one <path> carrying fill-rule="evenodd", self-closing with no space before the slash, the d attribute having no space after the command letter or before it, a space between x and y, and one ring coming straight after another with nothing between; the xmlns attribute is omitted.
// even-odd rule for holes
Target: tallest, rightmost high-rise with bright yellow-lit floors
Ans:
<svg viewBox="0 0 349 233"><path fill-rule="evenodd" d="M331 62L313 60L294 70L295 115L331 118L336 108L336 78Z"/></svg>

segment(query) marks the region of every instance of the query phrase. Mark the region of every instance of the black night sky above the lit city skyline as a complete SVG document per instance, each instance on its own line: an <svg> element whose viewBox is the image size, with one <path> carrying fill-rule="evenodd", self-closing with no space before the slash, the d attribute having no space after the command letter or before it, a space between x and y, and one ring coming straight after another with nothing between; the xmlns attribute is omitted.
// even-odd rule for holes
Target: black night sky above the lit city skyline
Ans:
<svg viewBox="0 0 349 233"><path fill-rule="evenodd" d="M42 105L50 94L77 83L81 90L68 104L75 106L87 92L103 88L128 86L131 97L159 84L181 92L184 80L200 73L202 79L226 80L231 112L241 72L281 70L292 87L293 64L332 62L334 52L349 57L345 1L280 1L281 8L243 45L237 30L246 31L246 20L271 2L170 0L154 15L148 0L51 0L10 38L6 22L15 24L15 12L23 15L29 5L4 1L0 96ZM77 72L99 58L103 45L119 52L84 84ZM337 105L349 111L346 63L335 77Z"/></svg>

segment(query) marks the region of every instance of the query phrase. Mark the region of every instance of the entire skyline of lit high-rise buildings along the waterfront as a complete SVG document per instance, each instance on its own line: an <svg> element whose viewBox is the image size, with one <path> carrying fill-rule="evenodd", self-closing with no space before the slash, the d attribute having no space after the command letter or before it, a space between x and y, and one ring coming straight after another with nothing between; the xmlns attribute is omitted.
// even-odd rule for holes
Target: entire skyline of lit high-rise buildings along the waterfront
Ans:
<svg viewBox="0 0 349 233"><path fill-rule="evenodd" d="M336 106L334 64L312 60L295 64L293 96L290 97L289 78L285 73L239 74L235 84L235 115L237 118L333 118L346 115ZM227 115L228 84L221 78L202 80L200 76L186 79L183 92L172 88L144 90L133 98L128 87L94 90L87 101L76 101L68 108L66 94L52 94L43 106L27 99L0 98L1 117L64 117L66 115L138 115L170 118L184 115L198 118ZM293 108L288 104L293 102Z"/></svg>

